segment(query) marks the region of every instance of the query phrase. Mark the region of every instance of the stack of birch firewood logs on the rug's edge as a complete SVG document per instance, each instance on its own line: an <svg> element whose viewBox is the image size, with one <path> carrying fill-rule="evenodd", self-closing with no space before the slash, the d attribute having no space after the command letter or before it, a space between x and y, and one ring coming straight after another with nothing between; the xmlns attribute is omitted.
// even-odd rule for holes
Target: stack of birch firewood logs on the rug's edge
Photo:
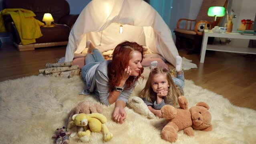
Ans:
<svg viewBox="0 0 256 144"><path fill-rule="evenodd" d="M73 65L73 62L63 62L46 64L45 69L39 70L40 76L54 76L71 78L72 76L78 76L80 74L80 69L78 65Z"/></svg>

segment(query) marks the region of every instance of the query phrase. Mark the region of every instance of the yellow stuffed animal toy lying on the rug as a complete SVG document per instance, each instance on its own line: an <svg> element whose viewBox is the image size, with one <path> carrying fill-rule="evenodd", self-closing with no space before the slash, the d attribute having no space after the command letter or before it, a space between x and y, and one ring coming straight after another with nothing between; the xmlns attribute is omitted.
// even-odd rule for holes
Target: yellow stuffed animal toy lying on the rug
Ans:
<svg viewBox="0 0 256 144"><path fill-rule="evenodd" d="M113 138L113 134L109 132L109 129L105 125L107 118L99 113L92 114L74 114L72 116L71 124L77 126L84 126L85 131L80 131L77 133L77 136L83 142L88 142L91 132L103 132L103 140L109 141Z"/></svg>

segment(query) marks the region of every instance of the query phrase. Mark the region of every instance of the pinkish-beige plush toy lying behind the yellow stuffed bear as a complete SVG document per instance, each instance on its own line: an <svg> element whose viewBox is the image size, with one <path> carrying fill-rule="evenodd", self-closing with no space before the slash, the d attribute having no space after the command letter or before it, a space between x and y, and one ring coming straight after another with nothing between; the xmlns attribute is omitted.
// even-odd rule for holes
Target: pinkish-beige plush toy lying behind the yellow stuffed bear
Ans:
<svg viewBox="0 0 256 144"><path fill-rule="evenodd" d="M102 113L102 106L100 104L95 104L92 102L80 102L75 108L73 108L69 114L68 114L68 126L67 129L72 132L71 137L75 136L77 132L79 131L84 131L83 126L77 126L75 127L74 125L71 125L70 122L73 121L72 116L75 114L91 114L91 113Z"/></svg>

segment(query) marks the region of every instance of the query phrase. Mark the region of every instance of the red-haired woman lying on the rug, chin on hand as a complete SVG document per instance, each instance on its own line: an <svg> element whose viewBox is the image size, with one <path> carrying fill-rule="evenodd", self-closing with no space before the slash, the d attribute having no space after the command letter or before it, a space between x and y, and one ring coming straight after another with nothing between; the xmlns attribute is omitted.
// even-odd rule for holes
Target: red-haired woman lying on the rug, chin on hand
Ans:
<svg viewBox="0 0 256 144"><path fill-rule="evenodd" d="M136 42L122 42L115 47L113 60L105 61L91 41L87 41L87 46L85 66L82 68L86 88L81 94L94 92L103 104L115 103L113 120L123 123L129 96L139 77L143 78L143 47Z"/></svg>

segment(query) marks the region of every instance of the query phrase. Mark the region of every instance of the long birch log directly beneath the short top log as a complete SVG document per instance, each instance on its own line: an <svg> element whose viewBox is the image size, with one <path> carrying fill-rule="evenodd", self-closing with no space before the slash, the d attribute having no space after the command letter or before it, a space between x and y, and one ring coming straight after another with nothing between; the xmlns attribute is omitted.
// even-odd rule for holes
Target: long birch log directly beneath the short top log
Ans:
<svg viewBox="0 0 256 144"><path fill-rule="evenodd" d="M39 70L39 73L52 74L55 72L63 72L63 71L76 70L76 69L79 69L79 65L46 68L46 69Z"/></svg>

